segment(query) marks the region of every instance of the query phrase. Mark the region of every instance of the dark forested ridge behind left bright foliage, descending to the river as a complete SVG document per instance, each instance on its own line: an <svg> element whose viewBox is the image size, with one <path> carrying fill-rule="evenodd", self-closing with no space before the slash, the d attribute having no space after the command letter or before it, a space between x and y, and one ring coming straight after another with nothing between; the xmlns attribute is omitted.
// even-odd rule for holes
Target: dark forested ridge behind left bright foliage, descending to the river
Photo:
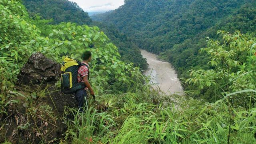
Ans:
<svg viewBox="0 0 256 144"><path fill-rule="evenodd" d="M48 36L50 31L48 24L59 24L60 22L74 22L78 25L98 26L112 42L118 47L122 56L121 60L127 63L134 63L140 66L141 70L147 69L147 62L139 52L138 46L123 33L119 32L113 26L107 26L101 22L93 22L75 2L68 0L22 0L30 16L34 19L40 19L38 16L49 20L38 24L38 28L44 29L44 36ZM50 28L50 27L48 27Z"/></svg>

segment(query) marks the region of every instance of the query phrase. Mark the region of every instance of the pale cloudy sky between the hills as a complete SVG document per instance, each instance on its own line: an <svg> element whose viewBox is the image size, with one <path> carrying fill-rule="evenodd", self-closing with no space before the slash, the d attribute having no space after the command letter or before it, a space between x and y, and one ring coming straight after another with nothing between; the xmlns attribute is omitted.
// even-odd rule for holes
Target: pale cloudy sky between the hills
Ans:
<svg viewBox="0 0 256 144"><path fill-rule="evenodd" d="M69 0L76 2L85 12L105 12L115 10L124 0Z"/></svg>

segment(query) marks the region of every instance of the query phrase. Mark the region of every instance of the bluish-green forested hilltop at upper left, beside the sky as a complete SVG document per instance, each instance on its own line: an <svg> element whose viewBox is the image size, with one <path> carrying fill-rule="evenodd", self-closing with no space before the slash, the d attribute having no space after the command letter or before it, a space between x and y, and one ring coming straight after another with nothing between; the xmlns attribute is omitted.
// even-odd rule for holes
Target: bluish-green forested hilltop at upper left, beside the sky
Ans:
<svg viewBox="0 0 256 144"><path fill-rule="evenodd" d="M53 19L51 24L60 22L75 22L82 25L92 24L87 12L84 12L75 2L68 0L22 0L29 9L30 16L41 14L44 19Z"/></svg>

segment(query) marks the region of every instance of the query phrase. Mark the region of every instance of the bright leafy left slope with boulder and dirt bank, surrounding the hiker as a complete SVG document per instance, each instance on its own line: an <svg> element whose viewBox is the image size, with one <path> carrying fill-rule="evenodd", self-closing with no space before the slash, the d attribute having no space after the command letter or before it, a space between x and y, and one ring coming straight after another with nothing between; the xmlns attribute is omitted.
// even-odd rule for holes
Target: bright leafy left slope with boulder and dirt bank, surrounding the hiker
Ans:
<svg viewBox="0 0 256 144"><path fill-rule="evenodd" d="M82 52L92 52L90 84L97 95L126 92L146 80L139 68L120 60L118 49L98 27L61 23L44 37L18 0L1 0L0 9L1 144L58 143L63 138L67 122L61 116L75 99L60 92L62 56L81 60Z"/></svg>

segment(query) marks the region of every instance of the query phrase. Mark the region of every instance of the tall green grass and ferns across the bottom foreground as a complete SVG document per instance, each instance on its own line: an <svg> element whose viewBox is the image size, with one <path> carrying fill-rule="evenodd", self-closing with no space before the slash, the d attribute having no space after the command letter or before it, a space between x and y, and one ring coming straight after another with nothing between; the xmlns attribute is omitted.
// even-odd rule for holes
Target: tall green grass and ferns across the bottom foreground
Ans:
<svg viewBox="0 0 256 144"><path fill-rule="evenodd" d="M254 91L256 92L256 91ZM168 100L169 106L150 102ZM73 144L255 144L256 109L231 106L226 100L204 103L180 96L159 98L150 90L102 96L68 122L64 143ZM146 100L147 99L147 100ZM176 99L176 100L174 100ZM174 100L174 101L172 101ZM178 101L177 101L178 100Z"/></svg>

